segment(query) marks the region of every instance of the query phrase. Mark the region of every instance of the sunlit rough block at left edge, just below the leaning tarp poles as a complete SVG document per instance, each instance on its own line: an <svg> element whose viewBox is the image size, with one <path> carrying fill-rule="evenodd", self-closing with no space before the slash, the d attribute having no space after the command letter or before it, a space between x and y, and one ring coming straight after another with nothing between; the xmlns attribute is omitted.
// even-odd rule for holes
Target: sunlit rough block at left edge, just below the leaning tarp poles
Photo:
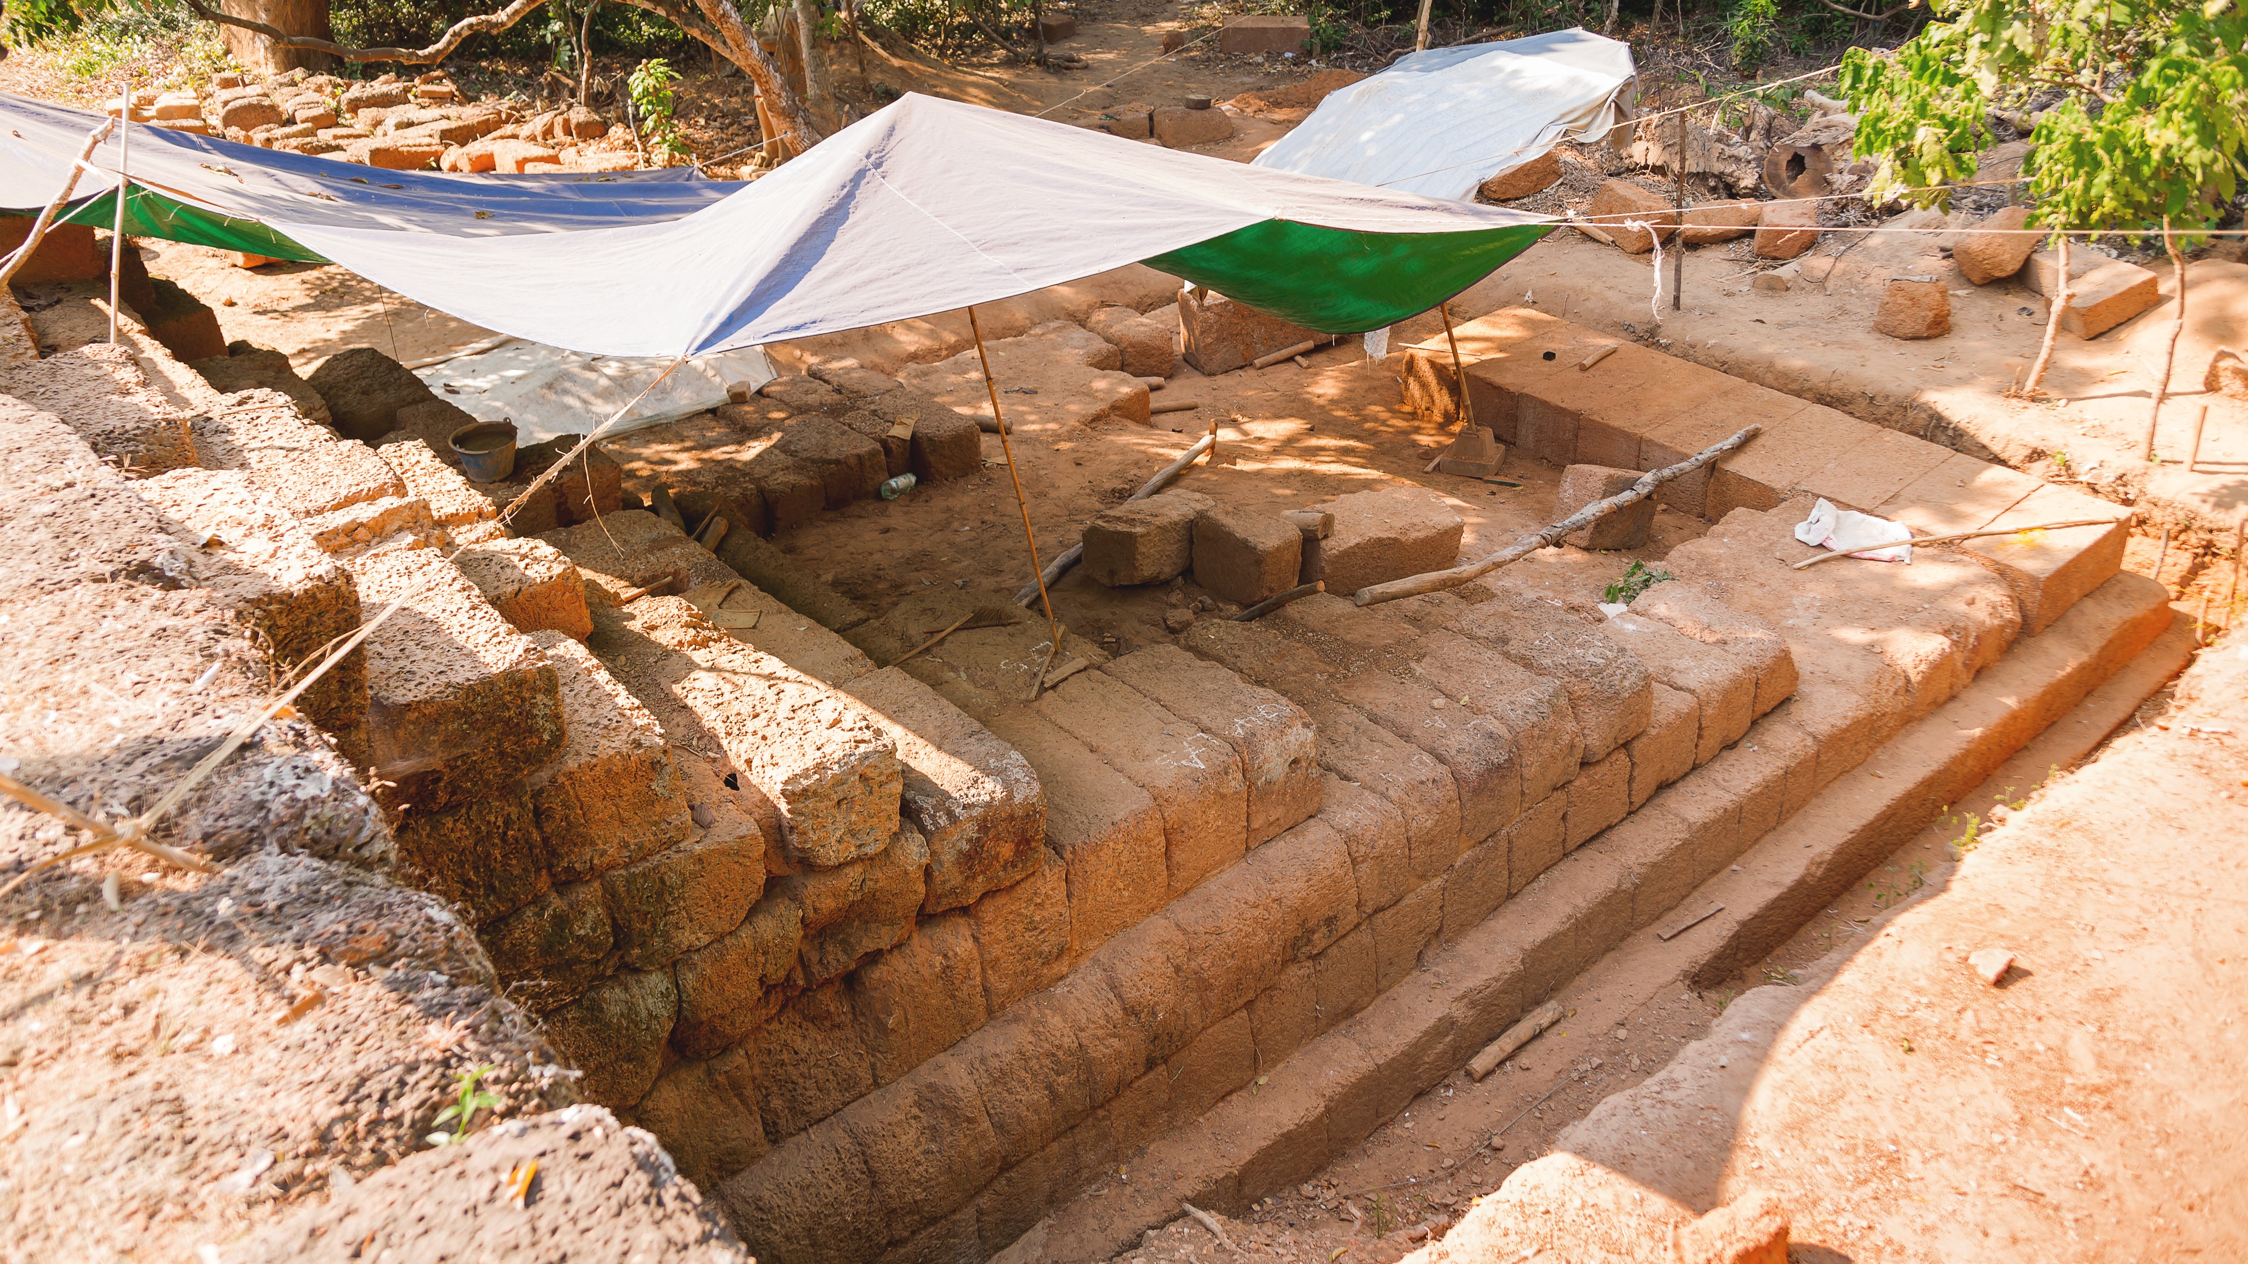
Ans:
<svg viewBox="0 0 2248 1264"><path fill-rule="evenodd" d="M124 346L97 342L18 364L9 371L7 394L58 416L128 477L214 463L189 439L189 421Z"/></svg>

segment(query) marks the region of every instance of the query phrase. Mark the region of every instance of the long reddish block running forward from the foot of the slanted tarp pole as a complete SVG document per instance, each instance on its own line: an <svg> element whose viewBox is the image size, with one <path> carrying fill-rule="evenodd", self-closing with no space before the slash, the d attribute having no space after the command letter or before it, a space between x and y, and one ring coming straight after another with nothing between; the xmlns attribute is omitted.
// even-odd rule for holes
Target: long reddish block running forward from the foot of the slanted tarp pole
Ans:
<svg viewBox="0 0 2248 1264"><path fill-rule="evenodd" d="M1171 897L1248 850L1248 778L1230 744L1099 672L1077 672L1032 708L1106 758L1162 810Z"/></svg>

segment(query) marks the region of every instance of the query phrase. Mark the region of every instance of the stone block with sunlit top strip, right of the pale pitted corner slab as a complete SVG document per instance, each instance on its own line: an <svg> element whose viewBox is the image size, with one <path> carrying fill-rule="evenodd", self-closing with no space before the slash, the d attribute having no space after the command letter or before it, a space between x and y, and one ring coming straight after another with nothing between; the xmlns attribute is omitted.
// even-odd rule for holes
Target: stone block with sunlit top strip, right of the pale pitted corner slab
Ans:
<svg viewBox="0 0 2248 1264"><path fill-rule="evenodd" d="M904 765L899 812L928 839L926 913L964 909L1039 870L1045 792L1014 747L897 668L847 693Z"/></svg>

